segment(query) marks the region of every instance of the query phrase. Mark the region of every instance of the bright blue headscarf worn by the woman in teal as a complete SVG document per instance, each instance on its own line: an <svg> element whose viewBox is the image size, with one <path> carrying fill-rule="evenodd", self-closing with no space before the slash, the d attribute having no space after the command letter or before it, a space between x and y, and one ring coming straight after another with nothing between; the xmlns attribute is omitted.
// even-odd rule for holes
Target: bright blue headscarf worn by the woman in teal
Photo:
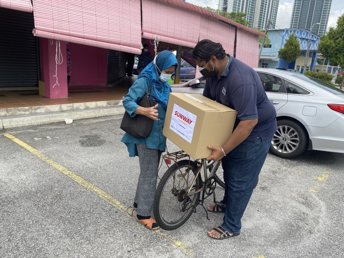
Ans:
<svg viewBox="0 0 344 258"><path fill-rule="evenodd" d="M162 82L159 76L161 75L162 70L169 68L172 65L175 65L175 68L178 67L178 62L174 54L171 51L167 50L161 51L155 58L155 65L154 61L152 61L149 65L146 66L146 68L142 70L140 75L137 77L138 79L143 76L146 77L148 86L148 76L151 77L152 91L150 93L150 97L152 100L159 101L165 110L167 109L167 102L169 100L171 87L170 84L168 84L167 82Z"/></svg>

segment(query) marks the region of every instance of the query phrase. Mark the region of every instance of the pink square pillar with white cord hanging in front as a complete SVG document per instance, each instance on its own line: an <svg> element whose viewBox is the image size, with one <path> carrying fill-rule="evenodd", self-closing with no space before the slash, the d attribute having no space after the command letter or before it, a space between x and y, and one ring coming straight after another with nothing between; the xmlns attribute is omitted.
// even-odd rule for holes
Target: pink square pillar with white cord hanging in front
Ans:
<svg viewBox="0 0 344 258"><path fill-rule="evenodd" d="M58 43L58 42L57 42ZM60 41L62 64L57 64L56 56L56 40L53 40L51 45L50 39L40 38L41 55L42 55L42 79L44 78L44 95L47 98L68 98L67 87L67 47L65 41ZM59 55L57 48L57 56ZM56 84L56 67L57 67L57 82Z"/></svg>

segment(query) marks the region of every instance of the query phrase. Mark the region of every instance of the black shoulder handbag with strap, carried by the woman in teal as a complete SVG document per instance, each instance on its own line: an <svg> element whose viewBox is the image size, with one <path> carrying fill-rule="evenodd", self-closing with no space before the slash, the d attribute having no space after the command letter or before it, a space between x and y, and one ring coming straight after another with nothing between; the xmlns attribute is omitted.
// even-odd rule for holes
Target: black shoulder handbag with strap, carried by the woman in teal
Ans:
<svg viewBox="0 0 344 258"><path fill-rule="evenodd" d="M137 103L139 106L145 108L155 106L156 101L153 101L149 96L151 90L152 82L151 78L149 77L147 94L143 96ZM131 117L126 111L124 113L120 128L136 139L144 139L150 136L153 129L153 123L154 120L147 116L136 114L136 116Z"/></svg>

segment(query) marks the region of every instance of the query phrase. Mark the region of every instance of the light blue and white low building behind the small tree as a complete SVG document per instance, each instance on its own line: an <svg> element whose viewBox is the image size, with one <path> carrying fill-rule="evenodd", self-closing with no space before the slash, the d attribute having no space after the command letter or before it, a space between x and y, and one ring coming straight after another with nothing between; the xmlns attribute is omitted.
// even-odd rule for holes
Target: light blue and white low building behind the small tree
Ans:
<svg viewBox="0 0 344 258"><path fill-rule="evenodd" d="M268 35L271 43L265 45L261 52L259 59L259 67L266 68L286 68L287 61L280 59L278 57L278 51L284 47L286 40L289 39L289 35L294 33L298 37L300 42L301 54L297 60L288 64L288 69L296 69L303 72L305 56L308 47L308 38L310 36L310 48L307 60L306 71L312 71L314 69L314 64L318 56L318 44L320 42L319 36L313 34L305 29L282 29L282 30L268 30Z"/></svg>

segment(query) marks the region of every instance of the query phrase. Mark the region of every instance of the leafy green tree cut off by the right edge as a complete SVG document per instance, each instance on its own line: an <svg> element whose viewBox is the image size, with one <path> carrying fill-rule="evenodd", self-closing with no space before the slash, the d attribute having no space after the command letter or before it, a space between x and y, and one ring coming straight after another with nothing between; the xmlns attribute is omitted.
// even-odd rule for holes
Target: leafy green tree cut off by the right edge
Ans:
<svg viewBox="0 0 344 258"><path fill-rule="evenodd" d="M344 14L337 20L337 27L330 27L329 31L320 37L318 51L330 60L330 65L344 67ZM343 89L344 76L340 88Z"/></svg>

